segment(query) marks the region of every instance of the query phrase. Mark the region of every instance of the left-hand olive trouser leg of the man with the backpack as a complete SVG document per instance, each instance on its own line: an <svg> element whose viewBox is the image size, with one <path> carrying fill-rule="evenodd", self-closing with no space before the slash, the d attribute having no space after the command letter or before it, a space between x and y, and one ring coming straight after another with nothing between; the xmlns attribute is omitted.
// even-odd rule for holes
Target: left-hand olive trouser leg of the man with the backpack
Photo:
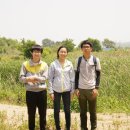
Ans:
<svg viewBox="0 0 130 130"><path fill-rule="evenodd" d="M80 121L81 121L81 130L88 130L87 128L87 98L86 90L79 89L79 106L80 106Z"/></svg>

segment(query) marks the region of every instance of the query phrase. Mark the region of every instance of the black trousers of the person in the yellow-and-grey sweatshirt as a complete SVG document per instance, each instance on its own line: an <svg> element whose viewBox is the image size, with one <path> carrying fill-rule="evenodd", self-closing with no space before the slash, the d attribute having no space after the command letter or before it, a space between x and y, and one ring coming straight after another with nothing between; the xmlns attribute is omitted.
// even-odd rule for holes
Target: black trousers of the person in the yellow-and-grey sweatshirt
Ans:
<svg viewBox="0 0 130 130"><path fill-rule="evenodd" d="M35 130L35 114L38 107L40 130L46 127L47 91L26 91L29 130Z"/></svg>

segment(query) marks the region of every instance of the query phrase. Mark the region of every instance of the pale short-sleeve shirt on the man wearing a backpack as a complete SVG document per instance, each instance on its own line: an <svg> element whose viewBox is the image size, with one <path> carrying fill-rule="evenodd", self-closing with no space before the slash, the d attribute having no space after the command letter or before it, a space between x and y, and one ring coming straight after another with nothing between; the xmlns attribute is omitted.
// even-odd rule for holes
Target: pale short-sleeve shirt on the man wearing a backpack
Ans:
<svg viewBox="0 0 130 130"><path fill-rule="evenodd" d="M99 58L96 57L96 68L93 61L93 56L91 55L88 60L82 57L80 63L80 73L79 73L79 88L81 89L93 89L96 84L96 70L101 70L101 65Z"/></svg>

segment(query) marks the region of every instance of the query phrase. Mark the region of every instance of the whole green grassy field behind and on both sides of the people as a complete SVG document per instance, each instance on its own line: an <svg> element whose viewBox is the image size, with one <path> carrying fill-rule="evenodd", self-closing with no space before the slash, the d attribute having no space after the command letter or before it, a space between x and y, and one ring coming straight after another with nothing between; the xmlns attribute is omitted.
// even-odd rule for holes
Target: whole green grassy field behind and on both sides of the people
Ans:
<svg viewBox="0 0 130 130"><path fill-rule="evenodd" d="M102 66L98 112L130 113L130 49L93 54L100 58ZM80 55L81 52L77 50L69 53L68 59L74 64L75 59ZM49 65L55 58L55 54L50 54L43 60ZM0 102L25 104L25 88L18 79L23 61L22 57L1 56ZM48 98L48 108L52 108L50 98ZM76 97L72 100L71 109L79 111Z"/></svg>

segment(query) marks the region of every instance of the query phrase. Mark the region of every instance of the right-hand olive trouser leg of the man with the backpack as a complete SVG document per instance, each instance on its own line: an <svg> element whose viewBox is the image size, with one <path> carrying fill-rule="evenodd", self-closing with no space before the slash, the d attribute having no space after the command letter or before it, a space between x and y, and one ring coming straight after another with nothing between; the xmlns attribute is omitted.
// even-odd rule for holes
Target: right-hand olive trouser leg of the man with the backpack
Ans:
<svg viewBox="0 0 130 130"><path fill-rule="evenodd" d="M96 130L97 128L97 114L96 114L96 103L97 99L89 100L89 112L90 112L90 122L91 130Z"/></svg>

